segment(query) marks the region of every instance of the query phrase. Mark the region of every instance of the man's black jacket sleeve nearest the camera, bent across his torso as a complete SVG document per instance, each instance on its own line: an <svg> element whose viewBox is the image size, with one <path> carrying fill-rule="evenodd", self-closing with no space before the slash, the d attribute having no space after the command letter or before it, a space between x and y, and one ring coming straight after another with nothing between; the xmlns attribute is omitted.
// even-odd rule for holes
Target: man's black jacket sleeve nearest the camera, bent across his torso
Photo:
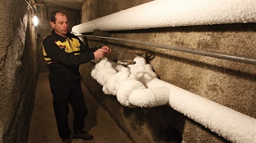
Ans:
<svg viewBox="0 0 256 143"><path fill-rule="evenodd" d="M46 54L51 59L63 63L64 65L79 65L95 59L94 54L89 52L80 53L78 55L66 53L63 48L60 48L57 44L55 44L54 40L49 38L43 41L43 47Z"/></svg>

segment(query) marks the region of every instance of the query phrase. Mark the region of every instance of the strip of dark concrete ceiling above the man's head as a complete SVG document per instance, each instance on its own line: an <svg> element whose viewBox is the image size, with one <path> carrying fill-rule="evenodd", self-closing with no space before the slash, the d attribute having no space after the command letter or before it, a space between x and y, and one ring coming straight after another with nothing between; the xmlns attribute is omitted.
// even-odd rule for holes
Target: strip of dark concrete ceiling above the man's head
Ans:
<svg viewBox="0 0 256 143"><path fill-rule="evenodd" d="M64 6L67 8L75 9L77 11L81 11L82 2L84 0L41 0L42 2L55 4L58 6Z"/></svg>

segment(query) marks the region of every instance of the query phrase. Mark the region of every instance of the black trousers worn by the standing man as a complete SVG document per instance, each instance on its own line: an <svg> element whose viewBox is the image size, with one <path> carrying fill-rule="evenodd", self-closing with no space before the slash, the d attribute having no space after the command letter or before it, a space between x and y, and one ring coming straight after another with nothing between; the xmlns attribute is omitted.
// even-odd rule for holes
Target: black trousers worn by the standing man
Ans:
<svg viewBox="0 0 256 143"><path fill-rule="evenodd" d="M71 134L67 118L69 103L74 112L74 131L81 131L84 128L85 116L88 114L80 78L62 78L50 74L49 82L59 136L62 139L67 139Z"/></svg>

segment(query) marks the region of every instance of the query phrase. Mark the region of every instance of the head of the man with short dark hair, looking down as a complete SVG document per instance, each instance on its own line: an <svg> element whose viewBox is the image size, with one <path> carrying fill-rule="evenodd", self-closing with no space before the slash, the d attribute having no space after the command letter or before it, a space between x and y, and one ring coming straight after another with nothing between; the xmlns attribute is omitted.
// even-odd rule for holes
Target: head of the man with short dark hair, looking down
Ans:
<svg viewBox="0 0 256 143"><path fill-rule="evenodd" d="M54 28L56 34L65 37L68 29L68 21L66 15L63 13L56 13L55 19L55 23L50 22L50 25L52 28Z"/></svg>

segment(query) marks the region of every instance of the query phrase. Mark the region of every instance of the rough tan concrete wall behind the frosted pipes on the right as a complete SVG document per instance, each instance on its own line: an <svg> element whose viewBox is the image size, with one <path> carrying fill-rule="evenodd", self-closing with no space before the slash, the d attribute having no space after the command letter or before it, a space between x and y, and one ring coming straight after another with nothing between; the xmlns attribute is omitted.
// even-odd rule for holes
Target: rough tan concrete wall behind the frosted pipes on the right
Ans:
<svg viewBox="0 0 256 143"><path fill-rule="evenodd" d="M86 0L82 23L151 0ZM157 20L157 19L156 19ZM182 26L130 31L115 31L113 37L150 41L175 46L234 53L256 57L256 23ZM152 50L147 57L159 78L221 105L256 118L256 66L157 47L112 40L89 39L89 46L108 45L113 53L108 59L133 59L134 48ZM168 106L127 108L114 96L104 95L102 86L90 76L93 63L81 66L87 88L110 112L119 126L135 142L228 142Z"/></svg>

